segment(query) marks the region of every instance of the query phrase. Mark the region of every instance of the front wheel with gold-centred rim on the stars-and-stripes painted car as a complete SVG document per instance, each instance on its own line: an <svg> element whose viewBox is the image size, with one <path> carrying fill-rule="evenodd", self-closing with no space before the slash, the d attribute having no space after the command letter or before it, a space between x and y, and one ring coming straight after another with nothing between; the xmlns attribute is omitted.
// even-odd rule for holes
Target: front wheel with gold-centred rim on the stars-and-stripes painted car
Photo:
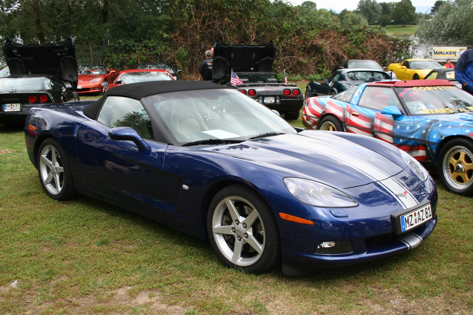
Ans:
<svg viewBox="0 0 473 315"><path fill-rule="evenodd" d="M438 154L438 176L445 188L463 196L473 195L473 141L456 138Z"/></svg>

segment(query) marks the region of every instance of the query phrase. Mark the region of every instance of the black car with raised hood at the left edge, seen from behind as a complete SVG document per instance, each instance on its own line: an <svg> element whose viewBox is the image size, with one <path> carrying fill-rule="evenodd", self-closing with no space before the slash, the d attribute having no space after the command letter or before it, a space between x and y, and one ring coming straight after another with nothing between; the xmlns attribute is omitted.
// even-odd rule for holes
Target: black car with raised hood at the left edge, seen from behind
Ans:
<svg viewBox="0 0 473 315"><path fill-rule="evenodd" d="M24 122L31 108L79 100L74 44L3 45L10 75L0 78L0 123Z"/></svg>

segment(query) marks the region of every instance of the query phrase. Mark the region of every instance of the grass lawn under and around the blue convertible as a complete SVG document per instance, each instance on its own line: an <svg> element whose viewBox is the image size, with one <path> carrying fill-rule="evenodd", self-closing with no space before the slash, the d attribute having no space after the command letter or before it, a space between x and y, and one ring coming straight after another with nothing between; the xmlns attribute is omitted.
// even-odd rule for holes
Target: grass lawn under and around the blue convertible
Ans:
<svg viewBox="0 0 473 315"><path fill-rule="evenodd" d="M88 197L48 198L22 128L0 126L0 314L472 314L473 199L437 183L437 228L411 251L245 274L208 241Z"/></svg>

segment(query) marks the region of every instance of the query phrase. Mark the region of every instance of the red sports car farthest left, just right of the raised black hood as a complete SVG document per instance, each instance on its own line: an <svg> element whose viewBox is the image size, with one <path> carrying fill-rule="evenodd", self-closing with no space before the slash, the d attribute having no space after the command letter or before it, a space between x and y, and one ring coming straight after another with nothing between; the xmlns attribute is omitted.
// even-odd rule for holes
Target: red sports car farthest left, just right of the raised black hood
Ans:
<svg viewBox="0 0 473 315"><path fill-rule="evenodd" d="M77 92L84 94L102 93L102 82L113 82L117 69L107 69L103 64L81 64L79 65L79 83Z"/></svg>

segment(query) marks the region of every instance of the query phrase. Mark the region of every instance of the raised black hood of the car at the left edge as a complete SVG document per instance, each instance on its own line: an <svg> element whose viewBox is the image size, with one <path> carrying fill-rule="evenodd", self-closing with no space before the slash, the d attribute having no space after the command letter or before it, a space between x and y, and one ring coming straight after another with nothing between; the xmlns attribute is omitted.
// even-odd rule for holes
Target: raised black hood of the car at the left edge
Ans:
<svg viewBox="0 0 473 315"><path fill-rule="evenodd" d="M57 44L18 44L7 39L2 48L11 75L46 74L77 86L76 53L70 37Z"/></svg>

